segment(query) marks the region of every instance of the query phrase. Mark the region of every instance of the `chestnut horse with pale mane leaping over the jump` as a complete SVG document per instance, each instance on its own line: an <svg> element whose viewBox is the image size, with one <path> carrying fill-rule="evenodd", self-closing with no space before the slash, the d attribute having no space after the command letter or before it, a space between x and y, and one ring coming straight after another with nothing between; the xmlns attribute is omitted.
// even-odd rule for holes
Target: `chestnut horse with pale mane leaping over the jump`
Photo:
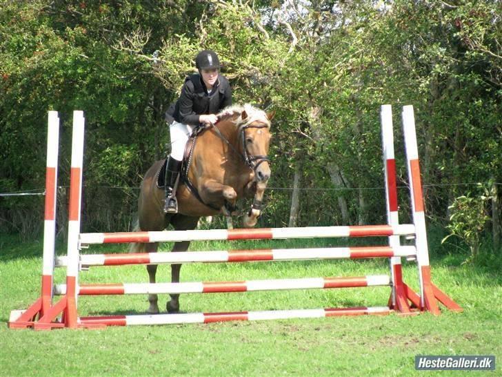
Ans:
<svg viewBox="0 0 502 377"><path fill-rule="evenodd" d="M145 173L138 200L135 231L162 231L172 225L175 230L192 230L202 216L234 214L237 200L254 197L251 209L243 218L243 226L257 224L261 214L263 193L270 178L268 150L270 122L274 113L254 106L230 106L218 114L218 122L205 127L189 151L187 143L184 168L176 191L178 213L165 214L164 189L159 178L165 160L155 162ZM197 133L197 132L196 132ZM190 242L176 242L172 252L187 251ZM154 253L158 242L132 244L133 253ZM171 281L179 282L181 264L171 265ZM157 264L147 265L150 283L155 283ZM171 294L166 304L168 313L179 312L179 294ZM159 313L156 294L148 296L148 313Z"/></svg>

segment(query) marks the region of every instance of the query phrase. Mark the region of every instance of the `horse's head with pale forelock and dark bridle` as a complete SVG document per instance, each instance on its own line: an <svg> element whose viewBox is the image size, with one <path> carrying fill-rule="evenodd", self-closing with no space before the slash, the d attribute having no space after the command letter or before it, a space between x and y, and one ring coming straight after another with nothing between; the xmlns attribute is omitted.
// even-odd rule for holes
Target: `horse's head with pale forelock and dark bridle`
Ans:
<svg viewBox="0 0 502 377"><path fill-rule="evenodd" d="M249 112L249 113L248 113ZM265 114L255 108L244 109L241 113L239 126L239 140L241 153L245 163L254 171L254 182L263 186L270 178L270 121L274 113Z"/></svg>

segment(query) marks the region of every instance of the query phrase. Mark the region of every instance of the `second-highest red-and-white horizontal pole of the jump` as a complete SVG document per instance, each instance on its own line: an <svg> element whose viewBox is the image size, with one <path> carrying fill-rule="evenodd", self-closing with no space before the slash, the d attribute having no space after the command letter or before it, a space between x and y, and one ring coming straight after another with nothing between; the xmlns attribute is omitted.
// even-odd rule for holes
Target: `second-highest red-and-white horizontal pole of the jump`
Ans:
<svg viewBox="0 0 502 377"><path fill-rule="evenodd" d="M125 264L178 264L210 262L260 262L270 260L319 260L410 257L414 246L401 247L321 247L311 249L255 249L230 251L183 251L179 253L81 254L81 265L121 266ZM66 256L56 258L56 267L68 263Z"/></svg>

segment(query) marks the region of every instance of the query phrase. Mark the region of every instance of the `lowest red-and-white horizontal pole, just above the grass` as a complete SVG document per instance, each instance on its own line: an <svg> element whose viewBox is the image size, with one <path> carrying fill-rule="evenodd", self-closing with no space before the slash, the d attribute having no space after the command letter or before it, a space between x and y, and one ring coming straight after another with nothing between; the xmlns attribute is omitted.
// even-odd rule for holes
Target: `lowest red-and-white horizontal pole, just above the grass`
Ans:
<svg viewBox="0 0 502 377"><path fill-rule="evenodd" d="M326 309L294 309L270 311L237 311L228 313L151 314L141 316L81 317L82 325L132 326L179 325L183 323L212 323L235 320L286 320L292 318L328 318L337 316L384 316L388 307L354 307Z"/></svg>

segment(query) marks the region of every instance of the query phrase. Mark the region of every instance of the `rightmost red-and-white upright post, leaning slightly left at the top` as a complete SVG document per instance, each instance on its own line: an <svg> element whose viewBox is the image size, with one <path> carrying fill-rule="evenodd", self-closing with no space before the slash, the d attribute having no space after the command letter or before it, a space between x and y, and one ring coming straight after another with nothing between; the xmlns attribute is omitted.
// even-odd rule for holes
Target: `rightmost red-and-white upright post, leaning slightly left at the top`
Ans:
<svg viewBox="0 0 502 377"><path fill-rule="evenodd" d="M410 196L412 202L413 222L416 227L416 261L419 265L421 307L428 309L434 315L439 315L432 281L430 279L429 249L427 230L425 229L425 212L423 204L422 184L420 177L419 149L416 144L415 118L413 106L403 106L403 134L408 162L408 177L410 180Z"/></svg>

